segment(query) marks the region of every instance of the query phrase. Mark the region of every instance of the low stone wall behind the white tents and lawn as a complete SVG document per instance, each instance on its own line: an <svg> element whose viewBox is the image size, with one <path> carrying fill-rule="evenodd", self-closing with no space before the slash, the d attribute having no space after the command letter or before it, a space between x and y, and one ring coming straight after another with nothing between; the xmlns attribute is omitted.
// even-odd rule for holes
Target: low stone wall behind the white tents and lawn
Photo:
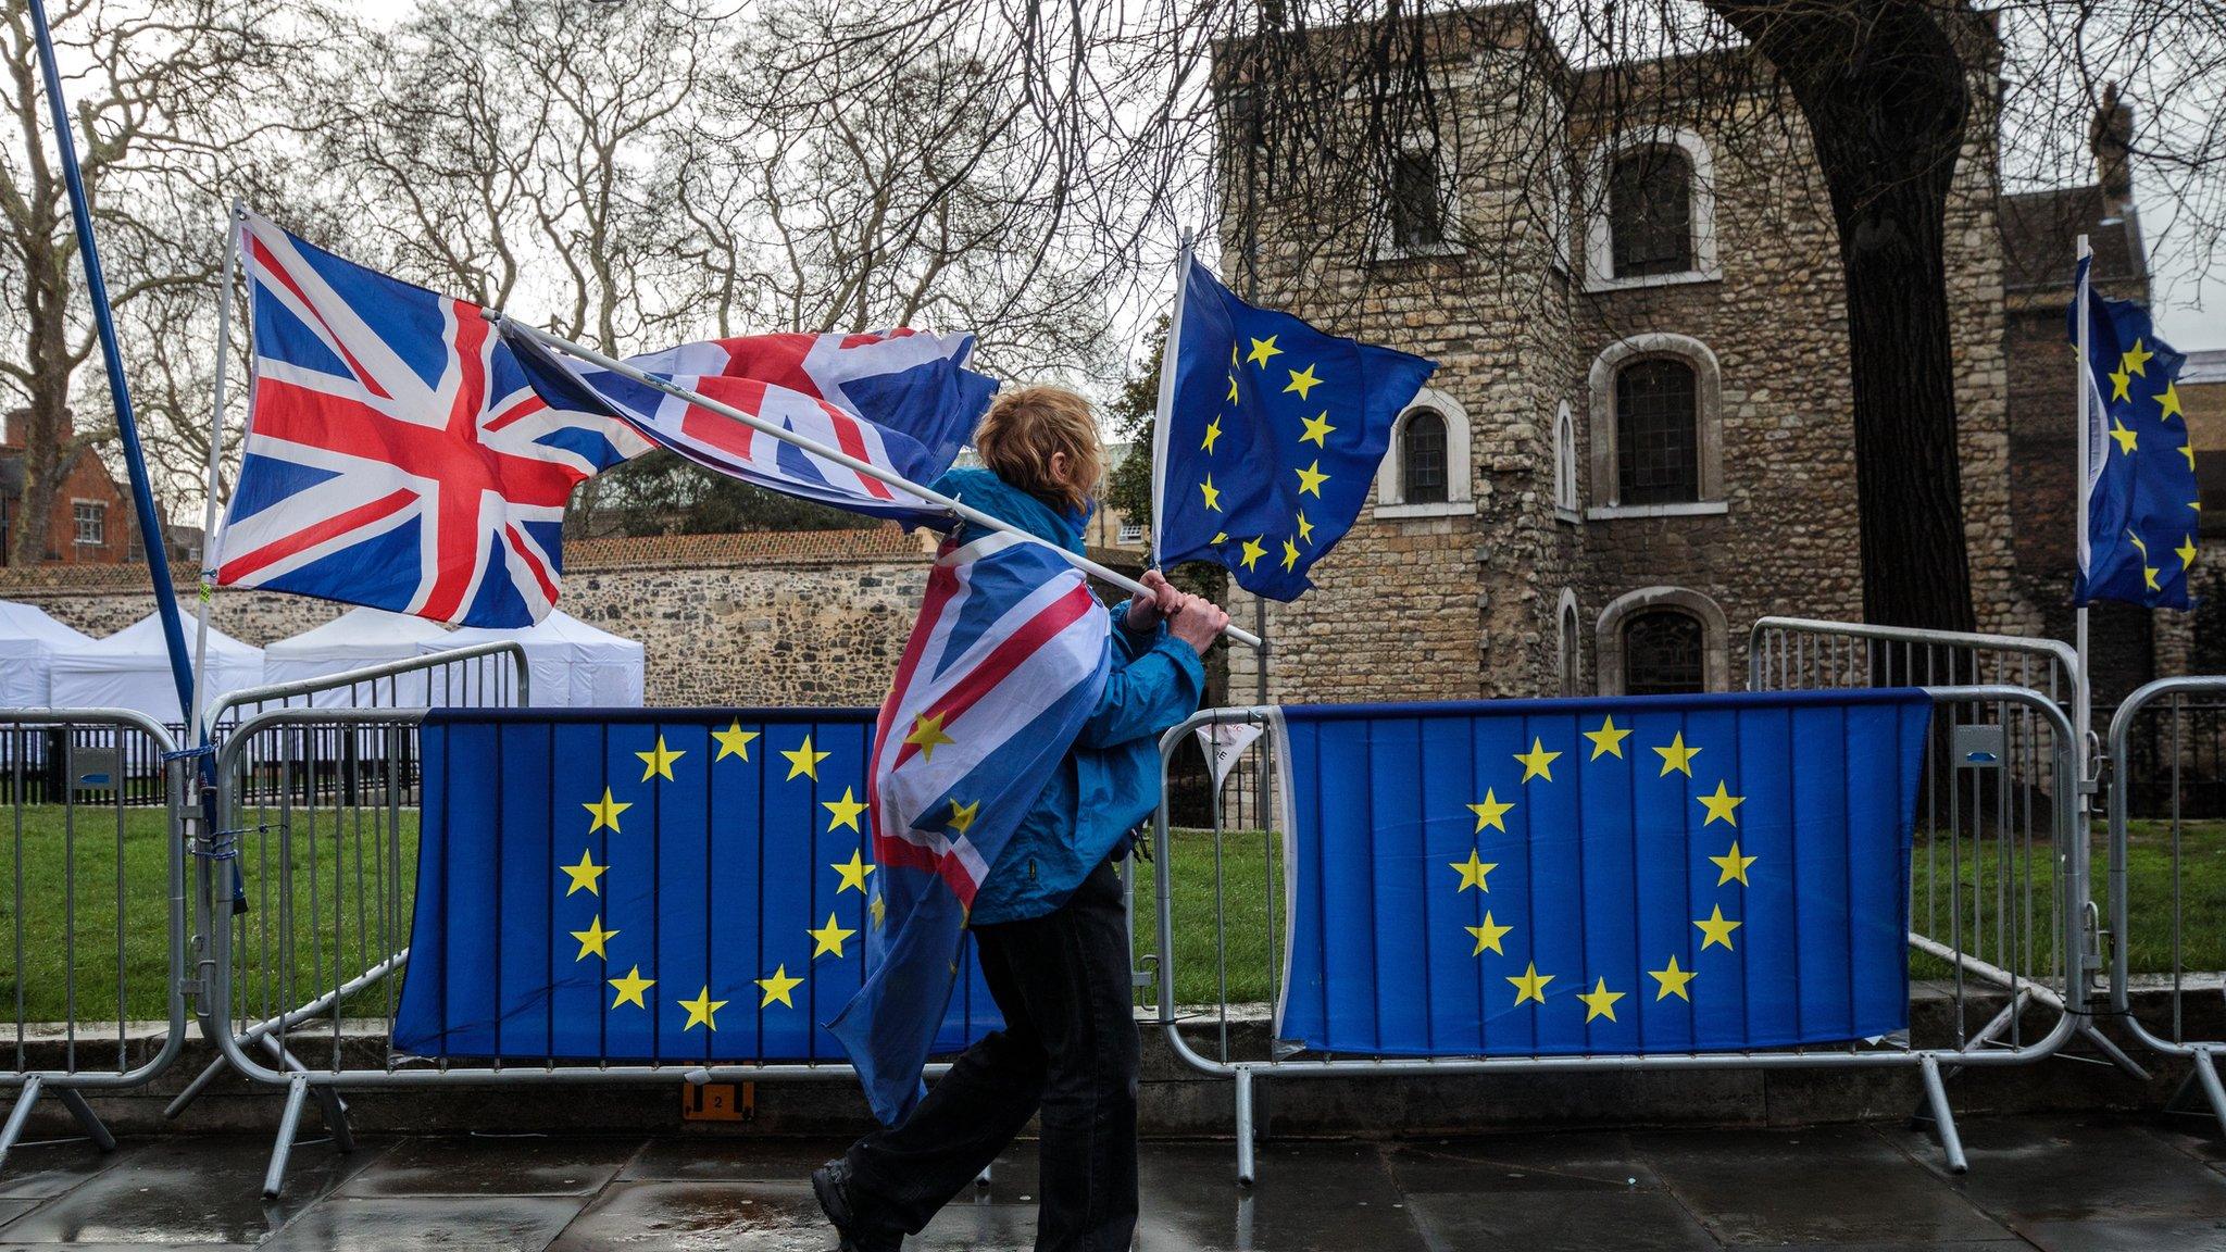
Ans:
<svg viewBox="0 0 2226 1252"><path fill-rule="evenodd" d="M646 646L648 704L879 704L926 573L895 528L590 539L565 550L559 606ZM0 599L89 635L154 610L145 566L0 570ZM345 608L227 588L209 619L263 646Z"/></svg>

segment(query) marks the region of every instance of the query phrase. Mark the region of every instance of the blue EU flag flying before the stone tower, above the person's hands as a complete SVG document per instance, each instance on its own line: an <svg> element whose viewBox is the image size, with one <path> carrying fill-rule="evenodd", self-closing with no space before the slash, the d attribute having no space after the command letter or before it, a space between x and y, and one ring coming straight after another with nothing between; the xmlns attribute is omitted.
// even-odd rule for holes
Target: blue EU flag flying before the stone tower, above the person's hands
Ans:
<svg viewBox="0 0 2226 1252"><path fill-rule="evenodd" d="M1244 590L1298 599L1436 368L1253 307L1184 252L1160 365L1153 564L1215 561Z"/></svg>

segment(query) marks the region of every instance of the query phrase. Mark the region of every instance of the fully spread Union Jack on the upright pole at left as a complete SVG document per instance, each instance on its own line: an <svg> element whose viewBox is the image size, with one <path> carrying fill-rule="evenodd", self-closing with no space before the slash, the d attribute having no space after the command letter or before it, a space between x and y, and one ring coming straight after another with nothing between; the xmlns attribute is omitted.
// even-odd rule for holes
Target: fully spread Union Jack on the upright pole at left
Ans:
<svg viewBox="0 0 2226 1252"><path fill-rule="evenodd" d="M216 581L465 626L556 604L565 501L650 443L534 394L494 323L243 225L254 390Z"/></svg>

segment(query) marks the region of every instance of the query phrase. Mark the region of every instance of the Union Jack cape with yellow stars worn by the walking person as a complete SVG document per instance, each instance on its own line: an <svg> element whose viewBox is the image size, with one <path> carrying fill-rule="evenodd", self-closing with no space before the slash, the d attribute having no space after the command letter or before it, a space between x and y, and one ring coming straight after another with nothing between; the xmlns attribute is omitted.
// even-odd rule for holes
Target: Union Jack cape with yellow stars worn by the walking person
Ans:
<svg viewBox="0 0 2226 1252"><path fill-rule="evenodd" d="M884 1123L919 1098L966 909L1111 664L1106 610L1055 550L944 541L875 726L870 974L828 1023Z"/></svg>

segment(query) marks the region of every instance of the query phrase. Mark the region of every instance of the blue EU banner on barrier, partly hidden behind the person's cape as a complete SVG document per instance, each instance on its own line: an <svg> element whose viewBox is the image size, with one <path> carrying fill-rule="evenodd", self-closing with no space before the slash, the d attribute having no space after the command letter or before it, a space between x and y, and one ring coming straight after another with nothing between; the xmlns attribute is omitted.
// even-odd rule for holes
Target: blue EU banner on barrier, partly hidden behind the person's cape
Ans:
<svg viewBox="0 0 2226 1252"><path fill-rule="evenodd" d="M432 711L394 1047L846 1060L884 925L870 708ZM937 1052L997 1029L968 945Z"/></svg>

